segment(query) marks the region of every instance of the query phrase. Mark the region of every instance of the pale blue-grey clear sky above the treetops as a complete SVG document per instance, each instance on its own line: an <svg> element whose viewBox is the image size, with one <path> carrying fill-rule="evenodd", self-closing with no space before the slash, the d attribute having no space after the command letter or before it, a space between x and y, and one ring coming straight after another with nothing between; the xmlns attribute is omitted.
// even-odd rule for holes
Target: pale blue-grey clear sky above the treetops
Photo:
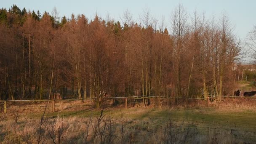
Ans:
<svg viewBox="0 0 256 144"><path fill-rule="evenodd" d="M102 19L106 19L107 13L115 21L125 9L131 11L133 21L139 22L139 15L143 14L145 8L150 10L152 16L159 20L165 17L167 28L171 27L170 17L173 10L183 5L187 13L192 17L193 11L204 12L208 19L214 15L216 21L224 13L229 17L234 26L234 34L245 40L256 25L256 0L0 0L0 7L10 8L16 4L19 8L27 10L39 10L41 13L47 11L51 14L56 7L59 16L70 18L71 14L84 14L88 19L93 19L97 13Z"/></svg>

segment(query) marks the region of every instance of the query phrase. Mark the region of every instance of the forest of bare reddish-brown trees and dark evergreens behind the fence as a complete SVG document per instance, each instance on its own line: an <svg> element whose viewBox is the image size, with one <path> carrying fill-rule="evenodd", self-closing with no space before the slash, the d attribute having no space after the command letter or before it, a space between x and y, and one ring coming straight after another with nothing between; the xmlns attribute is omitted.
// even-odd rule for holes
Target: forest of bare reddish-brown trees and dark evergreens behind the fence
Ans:
<svg viewBox="0 0 256 144"><path fill-rule="evenodd" d="M56 9L2 8L1 99L43 99L51 81L61 95L69 89L99 100L103 91L112 97L233 94L242 45L225 14L206 19L179 5L171 25L147 9L140 22L128 10L121 19L72 14L58 21Z"/></svg>

